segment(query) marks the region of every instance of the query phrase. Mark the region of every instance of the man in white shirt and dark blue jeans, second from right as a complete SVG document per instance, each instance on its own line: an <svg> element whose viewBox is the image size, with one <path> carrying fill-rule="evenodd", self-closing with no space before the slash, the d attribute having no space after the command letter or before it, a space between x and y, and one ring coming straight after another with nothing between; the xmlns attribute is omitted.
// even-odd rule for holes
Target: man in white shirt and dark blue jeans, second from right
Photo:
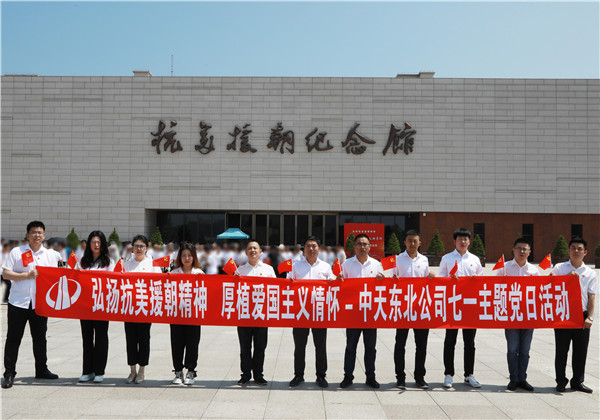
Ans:
<svg viewBox="0 0 600 420"><path fill-rule="evenodd" d="M515 258L508 261L504 268L498 270L498 276L539 276L538 269L527 262L531 254L531 245L525 238L517 239L513 244ZM533 338L533 329L511 328L504 330L506 336L508 372L510 381L506 388L514 391L522 388L533 392L533 387L527 382L527 366L529 365L529 349Z"/></svg>

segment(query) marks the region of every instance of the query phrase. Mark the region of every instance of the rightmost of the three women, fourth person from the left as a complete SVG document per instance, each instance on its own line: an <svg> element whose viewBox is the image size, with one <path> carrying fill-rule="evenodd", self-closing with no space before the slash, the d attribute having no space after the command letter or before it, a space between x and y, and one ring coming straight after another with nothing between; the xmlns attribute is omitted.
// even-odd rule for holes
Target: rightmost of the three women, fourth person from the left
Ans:
<svg viewBox="0 0 600 420"><path fill-rule="evenodd" d="M192 244L182 243L177 254L177 268L172 274L204 274ZM171 355L173 357L174 384L192 385L196 381L200 325L171 325ZM185 361L183 353L185 352ZM183 368L187 369L185 378Z"/></svg>

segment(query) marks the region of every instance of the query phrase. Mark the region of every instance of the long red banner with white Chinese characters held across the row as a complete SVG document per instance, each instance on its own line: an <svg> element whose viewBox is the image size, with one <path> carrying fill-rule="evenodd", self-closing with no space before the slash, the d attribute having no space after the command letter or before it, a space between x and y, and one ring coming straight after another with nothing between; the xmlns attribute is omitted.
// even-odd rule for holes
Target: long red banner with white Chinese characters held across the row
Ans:
<svg viewBox="0 0 600 420"><path fill-rule="evenodd" d="M316 328L581 328L576 276L296 280L38 267L57 318Z"/></svg>

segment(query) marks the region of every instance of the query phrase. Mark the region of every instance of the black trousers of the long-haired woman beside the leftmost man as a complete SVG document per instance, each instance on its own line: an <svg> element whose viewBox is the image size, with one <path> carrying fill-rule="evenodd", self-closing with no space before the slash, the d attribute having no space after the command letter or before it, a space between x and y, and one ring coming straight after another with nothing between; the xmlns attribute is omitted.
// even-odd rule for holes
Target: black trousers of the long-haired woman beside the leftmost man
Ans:
<svg viewBox="0 0 600 420"><path fill-rule="evenodd" d="M108 321L82 319L83 374L104 375L108 360Z"/></svg>

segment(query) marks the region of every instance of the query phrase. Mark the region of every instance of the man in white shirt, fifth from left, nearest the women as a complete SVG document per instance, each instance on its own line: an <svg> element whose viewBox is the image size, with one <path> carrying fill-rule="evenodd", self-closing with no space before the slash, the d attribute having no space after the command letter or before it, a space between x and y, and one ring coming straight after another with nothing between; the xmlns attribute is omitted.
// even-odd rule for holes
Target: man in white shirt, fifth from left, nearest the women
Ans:
<svg viewBox="0 0 600 420"><path fill-rule="evenodd" d="M273 267L260 261L261 253L262 250L258 242L251 239L246 245L248 263L238 268L236 274L241 277L277 277ZM240 367L242 370L242 376L237 384L245 386L250 378L254 376L254 382L263 386L267 385L267 381L263 376L268 337L267 327L238 327L237 330L240 341ZM253 342L254 354L252 354Z"/></svg>

